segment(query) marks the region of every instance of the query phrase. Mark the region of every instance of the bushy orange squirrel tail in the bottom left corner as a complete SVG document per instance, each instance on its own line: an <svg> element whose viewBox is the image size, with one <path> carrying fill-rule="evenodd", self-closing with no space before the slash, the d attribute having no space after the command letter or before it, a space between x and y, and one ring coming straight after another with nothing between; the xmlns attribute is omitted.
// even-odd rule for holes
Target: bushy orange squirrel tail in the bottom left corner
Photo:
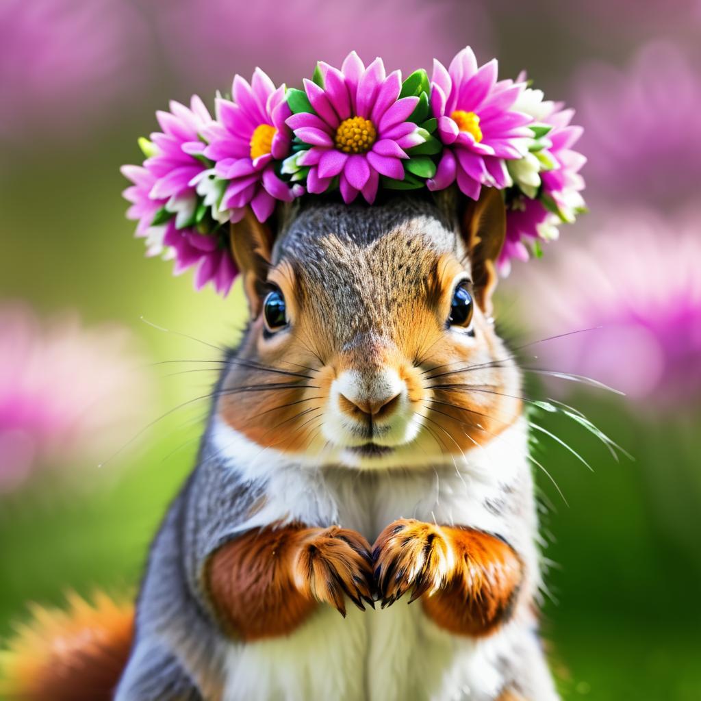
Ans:
<svg viewBox="0 0 701 701"><path fill-rule="evenodd" d="M134 605L97 593L93 603L31 606L0 649L0 698L7 701L109 701L134 635Z"/></svg>

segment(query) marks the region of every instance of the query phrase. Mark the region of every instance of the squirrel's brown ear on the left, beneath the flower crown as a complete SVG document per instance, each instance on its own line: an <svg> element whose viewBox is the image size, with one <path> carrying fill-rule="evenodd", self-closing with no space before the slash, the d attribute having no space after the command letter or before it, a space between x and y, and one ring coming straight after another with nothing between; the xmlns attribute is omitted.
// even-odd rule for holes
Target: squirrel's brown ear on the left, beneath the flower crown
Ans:
<svg viewBox="0 0 701 701"><path fill-rule="evenodd" d="M263 284L268 277L273 252L273 230L261 224L250 207L240 222L231 224L231 252L243 278L243 290L253 317L261 311Z"/></svg>

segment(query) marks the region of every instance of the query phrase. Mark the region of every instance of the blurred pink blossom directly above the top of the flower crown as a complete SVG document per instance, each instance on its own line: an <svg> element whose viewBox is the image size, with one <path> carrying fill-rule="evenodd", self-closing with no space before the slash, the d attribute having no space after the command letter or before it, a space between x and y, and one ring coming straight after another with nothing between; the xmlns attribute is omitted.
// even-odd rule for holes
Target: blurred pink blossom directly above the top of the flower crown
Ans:
<svg viewBox="0 0 701 701"><path fill-rule="evenodd" d="M351 50L367 61L382 56L405 74L448 57L469 39L491 50L491 25L482 1L169 0L153 5L154 25L175 72L197 90L228 86L231 74L264 65L276 81L298 87L317 61L338 65ZM206 49L204 48L205 39Z"/></svg>

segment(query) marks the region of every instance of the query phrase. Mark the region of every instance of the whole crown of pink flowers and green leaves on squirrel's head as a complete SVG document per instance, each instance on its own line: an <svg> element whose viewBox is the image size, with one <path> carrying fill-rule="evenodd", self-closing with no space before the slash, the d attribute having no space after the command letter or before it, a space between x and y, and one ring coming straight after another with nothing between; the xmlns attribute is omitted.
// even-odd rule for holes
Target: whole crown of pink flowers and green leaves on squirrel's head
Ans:
<svg viewBox="0 0 701 701"><path fill-rule="evenodd" d="M479 67L463 49L448 69L434 60L402 82L381 59L355 51L341 69L320 62L303 89L275 87L257 68L217 96L216 118L199 97L158 111L162 132L139 139L143 165L125 165L133 183L137 236L147 255L175 259L175 274L196 266L195 287L226 295L237 274L227 222L250 207L260 222L275 202L339 190L343 201L372 204L380 188L431 191L454 182L472 199L483 186L505 191L507 236L499 259L540 256L560 222L584 211L573 151L582 128L571 109L543 100L522 74L497 79L496 59Z"/></svg>

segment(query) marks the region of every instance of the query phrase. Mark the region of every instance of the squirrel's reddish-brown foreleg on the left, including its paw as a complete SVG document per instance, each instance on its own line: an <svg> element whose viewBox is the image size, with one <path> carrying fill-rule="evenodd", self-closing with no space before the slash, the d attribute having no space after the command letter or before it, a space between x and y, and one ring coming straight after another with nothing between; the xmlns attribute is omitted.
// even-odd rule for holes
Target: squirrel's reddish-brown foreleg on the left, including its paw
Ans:
<svg viewBox="0 0 701 701"><path fill-rule="evenodd" d="M372 597L369 543L355 531L299 524L271 527L222 546L207 566L207 590L226 632L247 641L286 635L318 602L346 615L344 595Z"/></svg>

